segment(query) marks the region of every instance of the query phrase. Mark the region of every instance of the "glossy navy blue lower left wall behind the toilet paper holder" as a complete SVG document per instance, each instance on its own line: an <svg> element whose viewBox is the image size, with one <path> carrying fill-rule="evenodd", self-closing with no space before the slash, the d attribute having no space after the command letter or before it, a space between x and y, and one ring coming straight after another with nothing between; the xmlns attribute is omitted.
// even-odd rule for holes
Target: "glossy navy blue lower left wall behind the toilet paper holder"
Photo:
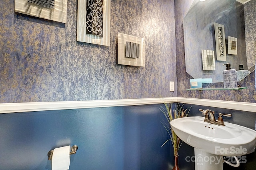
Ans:
<svg viewBox="0 0 256 170"><path fill-rule="evenodd" d="M0 114L0 170L51 170L48 151L77 145L70 170L167 170L159 104ZM171 152L171 153L170 153Z"/></svg>

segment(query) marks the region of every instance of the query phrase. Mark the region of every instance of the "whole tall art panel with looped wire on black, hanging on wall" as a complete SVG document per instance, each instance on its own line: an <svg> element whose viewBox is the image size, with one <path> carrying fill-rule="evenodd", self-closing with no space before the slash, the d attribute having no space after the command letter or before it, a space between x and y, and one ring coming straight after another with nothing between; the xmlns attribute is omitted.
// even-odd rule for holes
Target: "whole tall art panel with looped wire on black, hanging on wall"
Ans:
<svg viewBox="0 0 256 170"><path fill-rule="evenodd" d="M110 46L110 0L78 0L76 40Z"/></svg>

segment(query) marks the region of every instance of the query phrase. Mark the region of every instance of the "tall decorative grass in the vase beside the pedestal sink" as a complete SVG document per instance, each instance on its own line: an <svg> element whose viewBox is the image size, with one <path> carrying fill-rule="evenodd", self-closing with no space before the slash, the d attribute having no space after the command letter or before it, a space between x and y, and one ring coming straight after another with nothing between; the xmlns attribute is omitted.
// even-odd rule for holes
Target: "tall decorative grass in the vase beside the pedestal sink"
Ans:
<svg viewBox="0 0 256 170"><path fill-rule="evenodd" d="M174 149L174 156L178 156L178 151L182 144L182 140L180 140L180 138L175 134L174 130L172 130L170 122L176 118L187 117L191 107L184 109L183 105L180 106L180 104L178 103L172 110L172 103L164 103L164 105L165 107L161 106L160 110L163 112L168 123L167 121L164 121L164 123L162 122L162 124L164 125L164 128L167 130L170 136L170 139L166 140L164 144L171 140ZM164 146L164 144L162 144L162 146Z"/></svg>

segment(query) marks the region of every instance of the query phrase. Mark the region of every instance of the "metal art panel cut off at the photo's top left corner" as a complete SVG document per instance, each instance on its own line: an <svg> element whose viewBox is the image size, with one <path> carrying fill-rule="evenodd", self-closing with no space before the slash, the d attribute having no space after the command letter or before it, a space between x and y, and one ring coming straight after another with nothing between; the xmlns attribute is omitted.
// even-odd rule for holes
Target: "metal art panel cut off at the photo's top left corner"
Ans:
<svg viewBox="0 0 256 170"><path fill-rule="evenodd" d="M67 0L14 0L14 10L57 22L67 22Z"/></svg>

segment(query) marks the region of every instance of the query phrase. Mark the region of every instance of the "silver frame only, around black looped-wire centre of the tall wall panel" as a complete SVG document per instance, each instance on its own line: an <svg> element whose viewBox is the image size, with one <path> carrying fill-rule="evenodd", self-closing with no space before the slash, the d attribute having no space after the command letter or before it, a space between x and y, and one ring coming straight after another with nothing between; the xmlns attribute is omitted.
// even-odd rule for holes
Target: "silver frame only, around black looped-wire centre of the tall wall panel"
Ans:
<svg viewBox="0 0 256 170"><path fill-rule="evenodd" d="M87 1L78 0L76 40L79 42L110 46L110 0L103 0L102 36L86 34L86 22L88 20Z"/></svg>

